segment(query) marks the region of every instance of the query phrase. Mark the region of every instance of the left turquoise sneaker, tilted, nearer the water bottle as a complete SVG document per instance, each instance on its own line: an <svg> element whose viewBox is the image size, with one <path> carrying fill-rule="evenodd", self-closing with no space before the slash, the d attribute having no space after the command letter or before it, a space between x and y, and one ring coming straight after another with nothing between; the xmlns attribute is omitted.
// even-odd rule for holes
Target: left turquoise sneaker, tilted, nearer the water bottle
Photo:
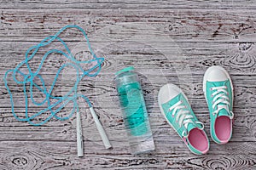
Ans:
<svg viewBox="0 0 256 170"><path fill-rule="evenodd" d="M209 140L204 125L195 117L187 97L173 84L160 88L158 94L160 111L166 121L183 139L189 150L195 154L205 154L209 150Z"/></svg>

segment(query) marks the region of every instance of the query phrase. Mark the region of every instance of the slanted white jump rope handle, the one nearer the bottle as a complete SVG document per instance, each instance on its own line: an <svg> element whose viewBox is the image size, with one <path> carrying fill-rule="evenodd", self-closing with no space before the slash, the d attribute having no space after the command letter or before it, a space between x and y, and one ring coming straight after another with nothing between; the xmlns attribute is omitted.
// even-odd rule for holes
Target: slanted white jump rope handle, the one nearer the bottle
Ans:
<svg viewBox="0 0 256 170"><path fill-rule="evenodd" d="M90 113L94 119L94 122L96 123L96 127L99 131L99 133L101 134L102 137L102 142L105 145L106 149L109 149L112 147L112 145L110 144L109 140L108 140L108 136L104 130L104 128L102 127L102 123L99 121L98 116L96 116L95 111L93 110L93 107L90 107Z"/></svg>

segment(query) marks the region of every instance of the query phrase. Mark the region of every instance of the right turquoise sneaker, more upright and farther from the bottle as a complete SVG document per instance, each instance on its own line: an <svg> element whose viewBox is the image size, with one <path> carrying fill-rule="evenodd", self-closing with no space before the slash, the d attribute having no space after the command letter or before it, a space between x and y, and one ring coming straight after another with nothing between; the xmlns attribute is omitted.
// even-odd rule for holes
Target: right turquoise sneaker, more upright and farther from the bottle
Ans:
<svg viewBox="0 0 256 170"><path fill-rule="evenodd" d="M221 66L208 68L203 89L210 111L212 139L217 144L225 144L232 136L234 118L233 85L228 72Z"/></svg>

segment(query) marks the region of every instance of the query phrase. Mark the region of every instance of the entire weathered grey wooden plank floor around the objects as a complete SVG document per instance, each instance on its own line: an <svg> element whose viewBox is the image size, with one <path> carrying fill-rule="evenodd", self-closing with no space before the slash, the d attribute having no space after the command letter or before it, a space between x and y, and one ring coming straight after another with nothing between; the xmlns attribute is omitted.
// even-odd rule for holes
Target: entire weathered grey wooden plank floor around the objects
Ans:
<svg viewBox="0 0 256 170"><path fill-rule="evenodd" d="M255 1L0 2L1 77L25 59L27 48L61 27L78 25L88 33L92 48L106 60L98 77L84 78L79 92L89 97L113 144L113 149L104 149L88 107L81 102L84 157L77 157L75 116L62 122L51 119L41 127L19 122L1 81L0 169L256 169ZM86 57L79 31L72 29L61 37L74 54ZM42 49L39 54L45 52ZM37 68L38 59L32 60L32 67ZM45 60L41 73L45 82L53 80L64 62L54 55ZM154 134L155 150L144 156L130 154L113 83L114 73L129 65L140 73ZM182 88L210 138L202 77L211 65L223 66L234 83L233 138L224 145L210 139L207 155L195 156L161 116L157 93L167 82ZM73 71L67 70L66 75ZM55 85L55 95L73 86L72 78L64 76ZM15 82L9 86L15 111L24 116L22 88ZM29 113L41 109L30 105Z"/></svg>

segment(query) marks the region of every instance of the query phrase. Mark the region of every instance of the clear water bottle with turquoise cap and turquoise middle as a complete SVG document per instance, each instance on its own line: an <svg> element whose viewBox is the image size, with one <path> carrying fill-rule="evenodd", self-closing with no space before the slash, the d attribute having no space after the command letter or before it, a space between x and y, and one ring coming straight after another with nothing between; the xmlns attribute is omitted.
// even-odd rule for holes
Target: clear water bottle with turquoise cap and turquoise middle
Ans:
<svg viewBox="0 0 256 170"><path fill-rule="evenodd" d="M131 154L154 150L154 139L149 125L143 90L133 67L118 71L114 78Z"/></svg>

